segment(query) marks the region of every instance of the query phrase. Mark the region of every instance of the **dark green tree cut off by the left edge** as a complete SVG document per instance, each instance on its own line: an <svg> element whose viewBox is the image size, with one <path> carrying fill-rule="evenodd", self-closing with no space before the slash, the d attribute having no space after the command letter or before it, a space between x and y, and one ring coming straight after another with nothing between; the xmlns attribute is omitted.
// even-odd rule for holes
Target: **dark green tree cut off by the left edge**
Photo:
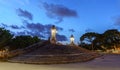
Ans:
<svg viewBox="0 0 120 70"><path fill-rule="evenodd" d="M4 49L8 45L12 37L13 35L10 33L9 30L0 28L0 49Z"/></svg>

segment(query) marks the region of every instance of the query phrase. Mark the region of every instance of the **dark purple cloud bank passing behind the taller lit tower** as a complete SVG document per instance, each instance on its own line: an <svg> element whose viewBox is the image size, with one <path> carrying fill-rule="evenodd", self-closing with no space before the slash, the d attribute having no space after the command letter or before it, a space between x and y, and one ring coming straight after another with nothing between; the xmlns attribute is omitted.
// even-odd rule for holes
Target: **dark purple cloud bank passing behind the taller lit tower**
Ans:
<svg viewBox="0 0 120 70"><path fill-rule="evenodd" d="M26 28L28 28L30 31L27 31L27 34L30 34L32 36L40 36L42 38L50 37L50 29L52 27L52 24L43 25L41 23L25 23ZM63 28L56 26L58 31L62 31ZM57 40L58 41L66 41L67 37L64 35L57 34Z"/></svg>

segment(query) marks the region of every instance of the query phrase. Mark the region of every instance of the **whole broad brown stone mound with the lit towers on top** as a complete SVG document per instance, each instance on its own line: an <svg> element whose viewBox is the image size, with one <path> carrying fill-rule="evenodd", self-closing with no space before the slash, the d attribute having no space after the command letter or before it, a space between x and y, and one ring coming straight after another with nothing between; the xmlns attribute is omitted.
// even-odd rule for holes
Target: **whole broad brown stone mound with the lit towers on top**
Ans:
<svg viewBox="0 0 120 70"><path fill-rule="evenodd" d="M25 53L19 54L8 61L32 64L59 64L88 61L97 57L96 53L77 46L44 42L41 45L37 45L36 49L32 48L31 50L25 49Z"/></svg>

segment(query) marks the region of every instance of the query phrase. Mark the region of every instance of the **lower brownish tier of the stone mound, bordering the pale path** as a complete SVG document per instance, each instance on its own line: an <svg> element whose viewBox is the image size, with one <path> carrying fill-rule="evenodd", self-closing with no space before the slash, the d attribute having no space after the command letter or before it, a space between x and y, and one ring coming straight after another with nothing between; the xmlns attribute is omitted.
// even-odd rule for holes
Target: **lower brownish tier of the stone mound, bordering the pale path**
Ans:
<svg viewBox="0 0 120 70"><path fill-rule="evenodd" d="M30 64L60 64L71 62L84 62L94 59L91 54L64 54L64 55L25 55L15 57L10 62L30 63Z"/></svg>

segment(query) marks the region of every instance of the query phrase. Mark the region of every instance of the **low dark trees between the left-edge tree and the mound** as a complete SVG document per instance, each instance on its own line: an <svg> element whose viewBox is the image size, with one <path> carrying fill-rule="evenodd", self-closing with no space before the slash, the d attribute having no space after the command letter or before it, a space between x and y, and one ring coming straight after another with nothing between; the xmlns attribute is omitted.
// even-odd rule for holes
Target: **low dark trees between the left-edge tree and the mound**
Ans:
<svg viewBox="0 0 120 70"><path fill-rule="evenodd" d="M10 50L22 49L28 47L34 43L39 42L40 39L37 36L16 36L12 39L10 44Z"/></svg>

